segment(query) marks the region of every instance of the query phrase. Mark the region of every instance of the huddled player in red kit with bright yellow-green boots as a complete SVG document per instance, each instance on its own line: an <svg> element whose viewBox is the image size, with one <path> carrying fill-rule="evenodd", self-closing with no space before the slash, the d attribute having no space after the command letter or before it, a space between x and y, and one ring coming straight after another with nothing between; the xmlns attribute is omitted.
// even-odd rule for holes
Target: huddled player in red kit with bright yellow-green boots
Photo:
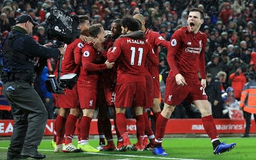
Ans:
<svg viewBox="0 0 256 160"><path fill-rule="evenodd" d="M105 41L104 29L100 24L92 25L89 29L90 37L95 43ZM97 64L97 50L93 48L93 43L85 43L82 48L82 66L77 80L78 99L83 110L81 119L81 146L80 148L86 152L99 152L98 149L91 147L88 143L89 130L92 117L95 110L95 102L97 98L97 83L99 78L99 70L112 68L114 62L106 61L103 64Z"/></svg>

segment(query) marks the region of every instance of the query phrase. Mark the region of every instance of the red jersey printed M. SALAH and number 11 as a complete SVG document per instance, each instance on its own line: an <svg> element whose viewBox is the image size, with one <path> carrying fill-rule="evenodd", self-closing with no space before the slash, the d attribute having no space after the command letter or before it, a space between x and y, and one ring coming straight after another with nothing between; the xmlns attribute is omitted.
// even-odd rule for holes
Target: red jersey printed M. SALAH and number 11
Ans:
<svg viewBox="0 0 256 160"><path fill-rule="evenodd" d="M107 55L109 62L115 62L118 59L116 61L117 84L145 82L146 59L149 58L155 66L158 64L158 58L146 39L118 38Z"/></svg>

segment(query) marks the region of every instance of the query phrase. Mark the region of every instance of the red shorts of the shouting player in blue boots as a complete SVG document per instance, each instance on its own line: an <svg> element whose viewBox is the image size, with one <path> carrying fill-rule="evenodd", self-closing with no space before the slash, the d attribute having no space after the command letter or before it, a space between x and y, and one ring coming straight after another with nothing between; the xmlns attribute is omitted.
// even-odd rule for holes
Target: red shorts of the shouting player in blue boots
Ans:
<svg viewBox="0 0 256 160"><path fill-rule="evenodd" d="M177 106L186 98L189 102L207 100L207 95L201 82L179 86L175 77L167 77L164 102L168 105Z"/></svg>

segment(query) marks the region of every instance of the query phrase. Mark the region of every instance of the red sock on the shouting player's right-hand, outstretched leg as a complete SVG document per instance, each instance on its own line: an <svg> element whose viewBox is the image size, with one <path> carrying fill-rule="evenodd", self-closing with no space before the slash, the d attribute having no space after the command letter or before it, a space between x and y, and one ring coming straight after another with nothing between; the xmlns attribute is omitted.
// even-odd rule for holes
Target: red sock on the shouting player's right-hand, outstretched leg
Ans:
<svg viewBox="0 0 256 160"><path fill-rule="evenodd" d="M209 138L211 139L213 145L213 149L215 149L220 144L220 140L216 126L213 122L212 115L202 117L202 121L204 125L204 130L209 135Z"/></svg>

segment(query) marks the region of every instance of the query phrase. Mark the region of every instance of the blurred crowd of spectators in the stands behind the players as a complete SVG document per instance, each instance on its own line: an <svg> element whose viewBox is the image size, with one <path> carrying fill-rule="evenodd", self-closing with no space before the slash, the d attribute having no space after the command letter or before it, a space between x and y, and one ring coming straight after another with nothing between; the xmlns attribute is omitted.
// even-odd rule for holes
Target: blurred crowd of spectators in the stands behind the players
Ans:
<svg viewBox="0 0 256 160"><path fill-rule="evenodd" d="M110 30L113 20L143 14L146 27L157 31L167 41L175 30L187 25L188 11L193 7L204 10L205 19L201 30L207 35L205 49L205 67L207 72L206 93L212 105L214 118L230 118L230 108L237 108L241 92L246 83L246 73L254 72L256 66L256 5L255 1L0 1L0 30L3 38L15 25L15 18L20 14L31 15L40 23L34 27L33 37L40 43L52 42L47 39L46 18L51 8L61 6L71 14L86 14L91 17L91 25L101 23L105 30ZM159 52L159 73L163 77L161 92L164 95L165 79L169 73L166 61L167 50ZM49 60L42 75L38 76L35 87L41 95L49 118L54 118L52 95L47 92L45 78L54 71L53 60ZM163 103L163 98L162 98ZM238 107L239 108L239 107ZM3 112L3 111L2 111ZM6 114L6 112L5 112ZM132 117L127 113L127 117ZM199 118L199 111L183 101L176 107L172 118ZM4 118L2 116L1 118Z"/></svg>

